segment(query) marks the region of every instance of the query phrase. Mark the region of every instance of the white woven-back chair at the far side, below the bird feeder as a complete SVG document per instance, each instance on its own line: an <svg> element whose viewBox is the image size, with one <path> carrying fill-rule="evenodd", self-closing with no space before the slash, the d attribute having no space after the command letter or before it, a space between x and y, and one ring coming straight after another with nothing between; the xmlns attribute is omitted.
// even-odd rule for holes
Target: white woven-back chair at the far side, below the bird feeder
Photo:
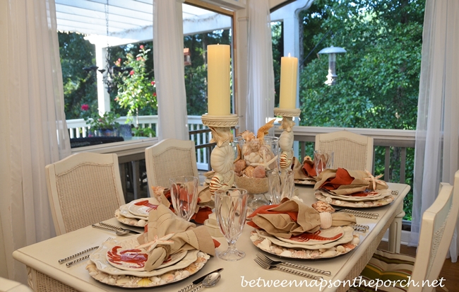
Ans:
<svg viewBox="0 0 459 292"><path fill-rule="evenodd" d="M316 135L315 150L333 151L333 168L373 169L373 138L349 131Z"/></svg>

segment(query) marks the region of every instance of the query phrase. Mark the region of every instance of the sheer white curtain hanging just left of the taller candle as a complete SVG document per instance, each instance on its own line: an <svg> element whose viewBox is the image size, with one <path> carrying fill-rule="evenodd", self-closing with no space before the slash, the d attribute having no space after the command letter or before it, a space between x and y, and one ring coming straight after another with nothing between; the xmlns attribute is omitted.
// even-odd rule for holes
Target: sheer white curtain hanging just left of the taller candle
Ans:
<svg viewBox="0 0 459 292"><path fill-rule="evenodd" d="M182 0L153 1L153 59L159 139L189 140Z"/></svg>

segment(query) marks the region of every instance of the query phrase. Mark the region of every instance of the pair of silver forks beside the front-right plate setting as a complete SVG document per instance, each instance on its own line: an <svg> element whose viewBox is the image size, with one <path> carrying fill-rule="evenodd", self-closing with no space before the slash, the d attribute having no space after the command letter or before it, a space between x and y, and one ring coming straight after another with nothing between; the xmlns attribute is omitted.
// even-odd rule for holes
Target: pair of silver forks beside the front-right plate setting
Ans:
<svg viewBox="0 0 459 292"><path fill-rule="evenodd" d="M313 280L321 280L323 278L321 276L314 276L314 275L311 275L311 274L304 273L302 271L297 271L295 269L302 269L304 271L309 271L309 272L315 273L315 274L322 274L322 275L326 275L326 276L331 276L330 271L323 271L321 269L314 269L314 268L311 268L311 267L303 266L301 264L294 264L292 262L275 261L273 259L270 259L269 257L266 257L266 255L262 255L261 253L258 253L256 255L254 261L260 267L262 267L263 269L268 269L268 270L277 269L279 271L285 271L286 273L290 273L290 274L294 274L294 275L298 275L298 276L303 276L304 278L309 278L309 279L313 279ZM282 266L292 267L292 268L295 268L295 269L289 269L289 268L282 267Z"/></svg>

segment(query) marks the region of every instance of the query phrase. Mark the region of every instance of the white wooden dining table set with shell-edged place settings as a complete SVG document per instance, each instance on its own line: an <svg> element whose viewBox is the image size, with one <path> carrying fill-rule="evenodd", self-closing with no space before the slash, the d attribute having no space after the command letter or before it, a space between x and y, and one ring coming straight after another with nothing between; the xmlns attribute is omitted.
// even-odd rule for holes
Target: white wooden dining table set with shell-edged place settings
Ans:
<svg viewBox="0 0 459 292"><path fill-rule="evenodd" d="M359 209L377 213L378 219L357 217L357 223L369 226L366 233L357 232L360 243L351 252L338 257L329 259L289 259L289 262L304 264L316 269L331 272L331 276L322 276L324 281L314 282L311 279L303 278L294 274L287 274L278 270L265 270L259 267L254 258L258 252L262 252L272 259L280 259L275 255L270 255L261 251L250 240L250 233L254 228L245 226L242 235L237 240L237 248L243 250L246 256L237 262L226 262L218 257L210 257L205 266L196 274L189 276L181 281L157 286L154 288L142 288L141 291L161 291L177 292L181 288L191 284L191 281L204 274L218 268L223 268L221 279L213 288L205 288L209 292L217 291L282 291L288 288L289 291L347 291L348 287L342 286L342 281L353 280L359 276L365 264L371 258L378 247L383 234L391 226L393 219L403 208L403 199L410 190L409 185L388 183L389 188L398 191L395 200L386 206L379 206L371 209ZM297 186L298 194L304 203L311 205L316 202L313 186ZM108 223L122 226L116 218L112 218ZM124 226L133 228L131 226ZM137 230L141 230L138 228ZM76 252L85 250L88 247L100 245L104 240L111 236L116 236L108 230L100 230L91 226L81 228L71 233L56 236L40 243L20 248L13 252L13 257L28 267L29 284L35 291L47 291L40 285L44 280L51 281L53 285L62 286L61 291L128 291L129 288L109 286L93 279L85 267L88 260L66 267L59 264L58 260ZM227 248L224 238L216 238L220 243L217 251ZM352 281L351 281L352 283ZM358 284L358 281L355 282ZM306 288L306 284L308 287ZM268 286L269 285L269 286Z"/></svg>

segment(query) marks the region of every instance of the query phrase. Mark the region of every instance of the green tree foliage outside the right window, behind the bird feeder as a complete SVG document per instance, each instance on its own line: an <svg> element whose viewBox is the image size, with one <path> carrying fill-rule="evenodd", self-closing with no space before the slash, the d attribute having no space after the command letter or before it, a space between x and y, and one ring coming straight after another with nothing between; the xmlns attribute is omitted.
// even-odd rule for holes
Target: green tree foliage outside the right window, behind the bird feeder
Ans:
<svg viewBox="0 0 459 292"><path fill-rule="evenodd" d="M332 33L300 64L300 125L415 129L424 6L424 0L316 0L302 11L303 56ZM337 56L335 86L323 83L328 55L316 54L330 45L347 51ZM410 185L412 150L407 151ZM376 148L377 174L384 173L384 151ZM397 181L400 148L391 148L391 167L384 179ZM409 194L406 218L411 217L411 202Z"/></svg>

